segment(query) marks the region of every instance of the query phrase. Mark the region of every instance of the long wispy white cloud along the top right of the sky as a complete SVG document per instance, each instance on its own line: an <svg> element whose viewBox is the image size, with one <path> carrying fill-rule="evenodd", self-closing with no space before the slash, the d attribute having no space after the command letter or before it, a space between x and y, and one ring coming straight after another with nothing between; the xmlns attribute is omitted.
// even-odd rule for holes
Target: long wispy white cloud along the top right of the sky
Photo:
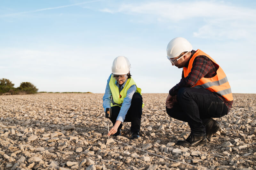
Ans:
<svg viewBox="0 0 256 170"><path fill-rule="evenodd" d="M194 7L200 10L194 10ZM221 2L149 2L136 4L120 4L116 9L105 8L100 11L109 13L146 14L155 15L171 21L206 17L206 18L233 18L252 20L256 17L256 10L232 6Z"/></svg>

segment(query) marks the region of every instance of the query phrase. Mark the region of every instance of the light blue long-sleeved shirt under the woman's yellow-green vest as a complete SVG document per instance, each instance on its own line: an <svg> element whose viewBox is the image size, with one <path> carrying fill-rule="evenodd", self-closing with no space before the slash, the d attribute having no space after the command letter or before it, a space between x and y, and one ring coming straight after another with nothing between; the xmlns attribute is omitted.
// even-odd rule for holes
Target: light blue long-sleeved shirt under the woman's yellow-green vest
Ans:
<svg viewBox="0 0 256 170"><path fill-rule="evenodd" d="M107 86L106 86L106 90L105 90L105 94L103 96L103 107L104 107L104 111L106 111L106 108L110 108L110 103L111 103L111 90L109 87L109 81L111 78L112 74L110 74L108 81L107 81ZM127 82L127 79L125 80L124 84L119 88L119 84L116 81L116 86L119 88L119 92L124 88L125 84ZM121 121L124 122L125 119L125 115L127 114L129 108L131 107L131 103L132 103L132 96L133 94L136 92L137 87L136 85L131 85L131 87L127 90L127 94L126 97L124 98L124 101L122 103L120 112L116 118L117 121Z"/></svg>

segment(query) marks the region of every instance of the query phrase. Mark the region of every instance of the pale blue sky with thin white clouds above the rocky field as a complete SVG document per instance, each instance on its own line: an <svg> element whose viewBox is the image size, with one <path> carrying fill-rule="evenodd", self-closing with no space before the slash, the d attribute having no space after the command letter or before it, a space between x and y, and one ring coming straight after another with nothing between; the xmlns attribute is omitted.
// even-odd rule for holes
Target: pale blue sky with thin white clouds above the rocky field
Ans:
<svg viewBox="0 0 256 170"><path fill-rule="evenodd" d="M225 71L232 92L256 93L256 1L0 1L0 78L39 91L104 93L119 55L142 93L181 78L166 46L184 37Z"/></svg>

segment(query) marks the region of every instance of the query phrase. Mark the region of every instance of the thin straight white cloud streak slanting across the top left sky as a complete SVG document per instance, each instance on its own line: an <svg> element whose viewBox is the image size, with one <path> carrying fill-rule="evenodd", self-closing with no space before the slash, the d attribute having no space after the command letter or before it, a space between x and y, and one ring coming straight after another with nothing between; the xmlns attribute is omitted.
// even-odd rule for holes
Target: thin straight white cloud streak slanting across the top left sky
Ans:
<svg viewBox="0 0 256 170"><path fill-rule="evenodd" d="M43 8L43 9L38 9L38 10L33 10L33 11L23 11L23 12L17 12L17 13L10 13L10 14L0 15L0 17L4 18L4 17L15 16L15 15L34 13L34 12L39 12L39 11L53 10L53 9L59 9L59 8L67 8L67 7L70 7L70 6L77 6L77 5L88 4L88 3L99 2L99 1L102 1L102 0L87 1L87 2L82 2L82 3L63 5L63 6L57 6L57 7L52 7L52 8Z"/></svg>

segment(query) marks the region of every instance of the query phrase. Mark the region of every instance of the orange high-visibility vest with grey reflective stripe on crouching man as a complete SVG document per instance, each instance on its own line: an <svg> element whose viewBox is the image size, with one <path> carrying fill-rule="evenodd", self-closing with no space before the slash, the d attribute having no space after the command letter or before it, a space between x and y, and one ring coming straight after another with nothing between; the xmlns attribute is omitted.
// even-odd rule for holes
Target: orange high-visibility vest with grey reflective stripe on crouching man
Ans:
<svg viewBox="0 0 256 170"><path fill-rule="evenodd" d="M188 63L188 68L183 67L184 77L187 77L188 74L191 72L193 61L199 55L205 55L206 57L211 59L213 63L217 64L209 55L205 54L203 51L198 49L196 50L196 53L190 58ZM228 83L228 78L220 66L219 66L219 69L217 70L217 74L214 77L212 78L203 77L200 80L198 80L193 87L204 88L204 89L210 90L211 92L216 92L217 94L219 94L220 96L223 96L228 101L233 100L231 88Z"/></svg>

